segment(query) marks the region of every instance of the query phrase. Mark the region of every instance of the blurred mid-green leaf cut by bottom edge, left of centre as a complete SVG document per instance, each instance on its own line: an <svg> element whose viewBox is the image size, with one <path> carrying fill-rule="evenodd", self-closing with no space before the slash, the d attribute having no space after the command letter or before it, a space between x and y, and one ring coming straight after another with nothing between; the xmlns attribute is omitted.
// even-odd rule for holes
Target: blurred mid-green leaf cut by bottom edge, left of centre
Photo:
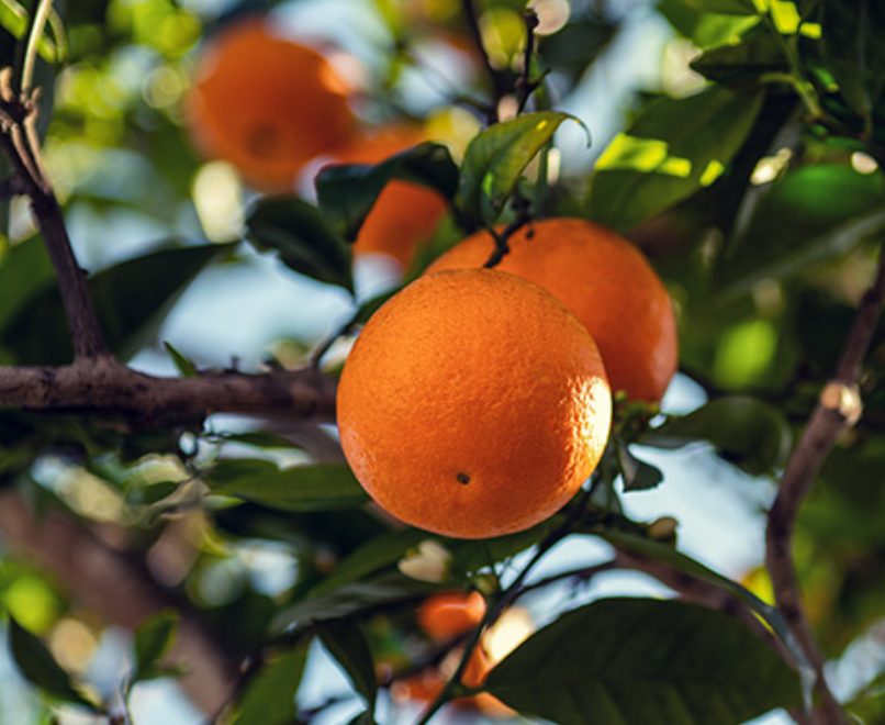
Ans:
<svg viewBox="0 0 885 725"><path fill-rule="evenodd" d="M271 654L236 704L231 725L290 725L298 722L295 693L307 663L307 643Z"/></svg>

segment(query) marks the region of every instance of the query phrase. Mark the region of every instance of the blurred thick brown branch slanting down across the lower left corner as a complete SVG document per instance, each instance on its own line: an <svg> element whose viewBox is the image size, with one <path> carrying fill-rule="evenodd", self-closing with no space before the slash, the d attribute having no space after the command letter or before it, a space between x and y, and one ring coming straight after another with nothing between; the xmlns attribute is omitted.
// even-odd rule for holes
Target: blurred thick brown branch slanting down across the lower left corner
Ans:
<svg viewBox="0 0 885 725"><path fill-rule="evenodd" d="M48 570L81 605L107 623L135 629L176 602L132 560L59 513L36 520L18 493L0 498L4 544ZM181 684L205 713L233 695L238 662L223 650L192 613L181 615L170 659L184 666Z"/></svg>

